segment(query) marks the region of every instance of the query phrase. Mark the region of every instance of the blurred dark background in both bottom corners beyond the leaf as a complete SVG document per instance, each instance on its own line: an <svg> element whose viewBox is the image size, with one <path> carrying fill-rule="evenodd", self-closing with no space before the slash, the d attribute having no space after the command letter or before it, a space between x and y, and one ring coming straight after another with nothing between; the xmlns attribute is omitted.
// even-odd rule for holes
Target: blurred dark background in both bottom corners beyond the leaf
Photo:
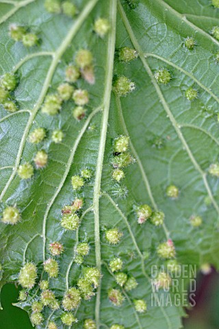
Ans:
<svg viewBox="0 0 219 329"><path fill-rule="evenodd" d="M211 274L197 278L196 306L184 319L185 329L218 329L219 328L219 275ZM18 289L14 284L5 284L1 293L0 329L31 329L27 313L12 306L18 298ZM162 329L162 328L161 328Z"/></svg>

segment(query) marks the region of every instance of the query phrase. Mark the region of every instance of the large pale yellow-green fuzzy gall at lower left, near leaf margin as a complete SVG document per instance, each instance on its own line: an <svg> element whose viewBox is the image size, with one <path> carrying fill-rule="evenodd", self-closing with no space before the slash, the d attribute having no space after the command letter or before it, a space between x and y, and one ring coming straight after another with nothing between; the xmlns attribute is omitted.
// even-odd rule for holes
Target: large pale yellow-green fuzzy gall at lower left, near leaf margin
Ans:
<svg viewBox="0 0 219 329"><path fill-rule="evenodd" d="M33 288L36 283L37 273L36 265L27 263L22 268L18 275L18 282L23 288Z"/></svg>

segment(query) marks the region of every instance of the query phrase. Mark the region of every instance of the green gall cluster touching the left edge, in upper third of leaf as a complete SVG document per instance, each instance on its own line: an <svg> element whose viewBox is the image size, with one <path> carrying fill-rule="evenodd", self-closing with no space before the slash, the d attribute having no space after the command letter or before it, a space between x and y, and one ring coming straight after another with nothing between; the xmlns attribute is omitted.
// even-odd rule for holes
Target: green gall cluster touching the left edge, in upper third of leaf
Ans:
<svg viewBox="0 0 219 329"><path fill-rule="evenodd" d="M5 73L0 80L0 103L8 112L16 112L18 107L13 99L14 89L17 86L18 78L12 73Z"/></svg>

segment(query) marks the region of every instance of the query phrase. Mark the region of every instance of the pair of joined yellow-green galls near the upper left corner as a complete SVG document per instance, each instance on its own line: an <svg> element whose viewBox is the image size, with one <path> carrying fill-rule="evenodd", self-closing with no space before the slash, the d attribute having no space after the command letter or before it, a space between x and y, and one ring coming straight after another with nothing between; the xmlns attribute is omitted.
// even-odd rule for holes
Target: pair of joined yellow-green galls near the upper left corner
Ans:
<svg viewBox="0 0 219 329"><path fill-rule="evenodd" d="M16 24L10 25L10 37L18 42L22 42L25 47L38 45L39 38L35 33L29 32L29 28Z"/></svg>

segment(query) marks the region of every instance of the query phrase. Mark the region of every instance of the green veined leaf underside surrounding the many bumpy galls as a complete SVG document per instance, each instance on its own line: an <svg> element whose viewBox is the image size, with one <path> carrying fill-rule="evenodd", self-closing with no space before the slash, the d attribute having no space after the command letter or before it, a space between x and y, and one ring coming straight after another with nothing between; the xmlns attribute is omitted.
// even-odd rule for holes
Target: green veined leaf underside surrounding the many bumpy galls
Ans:
<svg viewBox="0 0 219 329"><path fill-rule="evenodd" d="M215 57L219 41L211 35L218 10L208 0L185 2L77 0L73 18L47 12L42 0L0 2L0 74L14 73L18 82L10 91L18 111L7 112L5 103L0 108L1 217L8 206L21 212L16 225L0 223L1 287L17 283L21 267L34 263L36 284L25 302L16 303L29 315L32 302L40 298L38 282L48 278L43 263L51 258L49 244L60 241L64 246L57 258L59 275L49 278L60 309L44 307L44 321L38 328L47 328L49 321L66 328L60 319L62 299L68 288L77 287L84 267L97 267L102 276L99 287L92 287L94 297L82 299L74 310L78 319L74 328L83 328L85 319L94 319L96 328L113 324L132 329L181 328L185 302L179 299L186 293L183 282L191 273L182 273L179 288L172 288L170 295L162 290L153 293L151 269L166 264L158 257L157 246L171 239L179 264L198 268L211 264L218 269L219 68ZM110 26L101 36L95 25L100 18ZM33 47L10 37L12 24L25 27L26 34L36 34ZM128 63L120 60L123 47L136 51ZM88 90L86 117L73 117L73 100L64 101L58 114L45 114L41 111L45 98L64 82L66 67L75 64L80 49L91 51L94 58L94 67L82 68L82 77L73 84ZM164 74L166 84L159 84L157 72ZM129 79L125 90L133 83L126 97L118 77ZM193 89L198 94L190 96ZM30 143L29 135L39 127L46 137ZM52 139L54 130L64 133L60 143ZM129 136L131 158L127 158L136 161L131 160L124 169L125 178L116 182L112 162L120 157L114 154L114 141L120 135ZM40 150L49 157L42 169L34 164ZM26 162L34 165L34 175L27 180L18 175L18 167ZM90 169L92 177L83 178L81 189L74 191L71 178L83 169ZM176 199L166 195L170 185L179 188ZM76 231L64 230L62 209L77 197L83 197L77 212L81 224ZM150 218L138 223L138 207L143 204L153 212L164 212L162 226L153 225ZM192 226L194 216L202 217L201 226ZM113 228L123 233L116 245L106 239L107 230ZM89 244L90 252L79 265L75 256L81 242ZM115 257L123 260L123 271L137 280L135 289L125 291L116 284L109 265ZM123 293L122 306L110 302L110 289ZM164 300L170 296L172 303L155 305L155 296ZM145 313L136 311L136 300L146 302Z"/></svg>

